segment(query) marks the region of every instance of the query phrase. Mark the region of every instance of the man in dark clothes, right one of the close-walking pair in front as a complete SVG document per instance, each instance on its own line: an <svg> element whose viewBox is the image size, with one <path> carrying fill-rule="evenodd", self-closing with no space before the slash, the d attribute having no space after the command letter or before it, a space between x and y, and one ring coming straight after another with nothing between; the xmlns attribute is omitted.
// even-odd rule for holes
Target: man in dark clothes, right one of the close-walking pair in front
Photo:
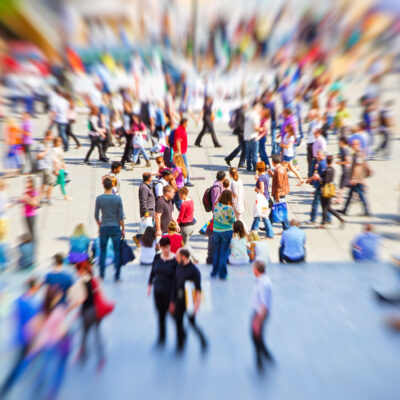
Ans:
<svg viewBox="0 0 400 400"><path fill-rule="evenodd" d="M176 255L178 263L176 267L175 277L172 284L171 301L169 311L174 316L176 322L177 333L177 351L182 352L186 341L186 332L183 325L183 318L186 313L186 299L185 299L185 283L193 282L195 287L194 293L194 311L193 315L188 315L189 324L196 332L200 339L202 351L207 349L207 340L204 333L196 324L196 314L200 308L201 302L201 275L198 268L190 260L189 250L183 248L179 249Z"/></svg>

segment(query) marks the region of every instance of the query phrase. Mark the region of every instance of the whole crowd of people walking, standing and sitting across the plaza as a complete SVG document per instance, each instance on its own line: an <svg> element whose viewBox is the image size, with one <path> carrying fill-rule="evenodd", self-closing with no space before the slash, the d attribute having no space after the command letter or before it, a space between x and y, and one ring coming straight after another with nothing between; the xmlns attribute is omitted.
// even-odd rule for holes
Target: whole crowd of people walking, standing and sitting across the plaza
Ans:
<svg viewBox="0 0 400 400"><path fill-rule="evenodd" d="M319 228L331 224L332 215L344 228L347 218L350 218L346 217L345 221L344 216L348 216L349 206L356 197L364 206L363 215L371 215L366 180L373 173L372 161L380 154L385 159L389 157L395 133L391 115L393 103L379 98L374 79L360 99L362 114L359 122L354 123L347 108L341 78L327 85L324 80L314 77L305 84L304 80L295 78L298 73L296 71L293 76L288 73L282 79L277 76L273 84L258 96L243 97L240 107L232 110L229 126L238 137L238 146L225 157L229 170L219 170L215 182L204 192L202 206L210 217L207 221L199 221L204 224L200 234L208 241L206 263L212 264L212 279L227 280L229 266L253 263L257 284L251 326L260 370L264 367L264 358L273 362L262 335L271 307L271 282L265 274L271 259L268 241L278 234L277 224L282 227L282 232L279 232L280 262L306 262L306 234L298 220L289 219L288 204L292 201L289 177L296 178L299 186L309 184L314 189L310 198L310 225L316 224L321 206ZM138 248L139 263L151 266L148 293L154 293L159 323L158 344L165 343L165 321L169 312L176 322L177 349L184 349L186 331L183 321L187 314L202 350L206 351L208 341L195 318L201 307L202 285L200 271L195 265L199 256L191 246L198 221L191 193L194 184L189 176L188 115L196 123L203 121L195 146L201 147L201 140L207 132L211 133L215 147L222 147L223 138L218 137L214 128L212 95L205 93L203 111L196 116L188 108L185 85L176 110L175 100L172 98L171 101L174 91L173 86L167 89L170 96L165 101L139 101L129 90L109 93L100 85L98 91L85 97L89 110L87 132L90 148L83 161L90 165L92 152L97 148L99 162L108 166L111 162L107 154L110 147L123 148L121 159L113 160L110 171L102 177L104 193L96 198L94 212L99 235L93 244L85 226L79 224L70 238L68 255L57 254L54 271L41 283L30 279L27 291L17 302L21 351L15 368L3 384L3 394L34 362L39 350L43 350L44 358L54 356L58 360L57 373L44 367L39 379L41 381L54 373L48 381L48 390L49 393L58 391L70 352L66 315L76 309L80 309L83 327L79 359L86 359L87 334L94 328L99 365L104 363L100 322L112 311L113 304L104 300L101 283L109 265L114 265L114 279L120 282L121 266L127 262L124 254L125 193L121 190L119 174L123 169L136 169L142 162L141 158L146 171L137 191L140 229L133 241ZM18 265L21 269L35 265L36 244L40 240L36 217L41 207L53 204L54 186L60 185L63 198L70 199L67 195L68 164L64 160L64 154L70 151L69 138L75 141L77 148L81 146L73 133L77 116L71 95L57 88L50 102L49 115L48 129L36 148L29 113L22 115L20 124L9 118L4 127L6 176L28 174L23 195L13 202L7 202L5 197L7 181L0 180L2 244L8 231L7 208L15 204L23 206L27 233L21 237L19 245ZM378 143L379 135L382 135L382 141ZM328 153L329 140L338 141L338 155ZM267 146L268 142L270 145ZM228 145L224 143L224 149ZM298 163L303 147L306 152L305 170ZM152 158L157 163L155 171L151 170ZM236 158L238 164L234 167L232 163ZM339 179L335 174L335 164L341 171ZM251 189L245 188L241 179L242 174L249 173L255 174L255 184ZM40 181L40 186L36 180ZM244 218L248 190L256 192L250 227ZM339 206L341 208L336 209ZM263 226L260 226L261 222ZM373 227L366 225L365 232L351 244L354 259L378 260L380 243ZM0 250L0 267L5 267L7 251L3 245ZM64 271L63 264L75 266L75 278ZM96 264L99 273L93 269ZM192 313L186 312L187 282L193 282L195 288ZM42 305L37 307L32 298L42 286L46 286L46 294ZM28 325L29 335L26 336L25 327ZM54 326L60 328L57 337L51 335Z"/></svg>

